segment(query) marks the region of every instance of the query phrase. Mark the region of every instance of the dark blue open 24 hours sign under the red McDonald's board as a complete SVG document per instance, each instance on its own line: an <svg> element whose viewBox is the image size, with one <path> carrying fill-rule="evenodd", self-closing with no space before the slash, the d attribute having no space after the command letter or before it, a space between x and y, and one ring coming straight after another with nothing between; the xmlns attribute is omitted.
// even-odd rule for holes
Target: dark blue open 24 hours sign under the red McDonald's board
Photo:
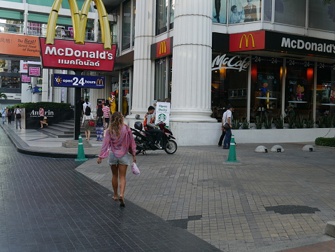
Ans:
<svg viewBox="0 0 335 252"><path fill-rule="evenodd" d="M52 86L54 87L105 87L105 77L101 76L73 76L69 74L54 73L52 79Z"/></svg>

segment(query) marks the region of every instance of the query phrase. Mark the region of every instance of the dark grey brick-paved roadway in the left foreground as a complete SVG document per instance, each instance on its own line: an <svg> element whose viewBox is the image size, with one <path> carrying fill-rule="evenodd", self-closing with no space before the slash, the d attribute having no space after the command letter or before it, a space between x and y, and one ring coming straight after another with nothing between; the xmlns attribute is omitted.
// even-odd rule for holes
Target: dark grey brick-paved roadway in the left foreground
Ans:
<svg viewBox="0 0 335 252"><path fill-rule="evenodd" d="M219 251L76 171L17 153L0 130L0 251Z"/></svg>

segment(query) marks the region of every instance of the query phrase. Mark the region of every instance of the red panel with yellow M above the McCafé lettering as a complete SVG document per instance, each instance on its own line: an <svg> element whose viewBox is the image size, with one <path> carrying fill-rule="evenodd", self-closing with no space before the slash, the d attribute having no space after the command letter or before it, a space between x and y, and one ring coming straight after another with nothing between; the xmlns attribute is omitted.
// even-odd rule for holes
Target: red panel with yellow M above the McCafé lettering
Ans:
<svg viewBox="0 0 335 252"><path fill-rule="evenodd" d="M262 50L265 48L265 31L230 34L229 52Z"/></svg>

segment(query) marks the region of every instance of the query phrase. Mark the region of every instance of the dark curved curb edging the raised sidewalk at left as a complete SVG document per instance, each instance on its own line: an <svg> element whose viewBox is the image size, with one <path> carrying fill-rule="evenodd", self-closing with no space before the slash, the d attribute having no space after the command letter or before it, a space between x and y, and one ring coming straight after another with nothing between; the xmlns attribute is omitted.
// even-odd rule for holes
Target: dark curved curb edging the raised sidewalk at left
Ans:
<svg viewBox="0 0 335 252"><path fill-rule="evenodd" d="M0 125L3 132L7 135L8 139L12 142L12 144L15 146L16 151L18 153L26 154L26 155L34 155L38 157L44 157L44 158L77 158L77 154L71 154L71 153L50 153L50 152L43 152L43 151L31 151L28 148L24 148L22 145L27 145L22 141L21 139L16 139L13 134L10 133L10 130L3 127L3 125ZM22 143L20 143L22 142ZM86 158L97 158L96 154L87 154L85 155Z"/></svg>

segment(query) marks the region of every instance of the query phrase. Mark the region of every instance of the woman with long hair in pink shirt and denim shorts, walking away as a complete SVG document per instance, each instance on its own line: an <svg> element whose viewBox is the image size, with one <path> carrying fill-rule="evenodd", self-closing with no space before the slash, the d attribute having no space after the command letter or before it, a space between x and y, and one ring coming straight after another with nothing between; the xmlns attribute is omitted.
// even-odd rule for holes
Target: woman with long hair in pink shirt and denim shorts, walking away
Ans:
<svg viewBox="0 0 335 252"><path fill-rule="evenodd" d="M111 151L109 149L111 148ZM108 164L112 170L112 186L114 191L113 200L120 201L120 207L124 207L124 189L126 188L126 172L130 165L127 157L128 151L131 150L133 161L136 162L136 144L130 128L123 123L123 115L115 112L111 116L111 121L106 131L104 144L97 160L98 164L101 160L108 157ZM120 179L120 196L117 197L118 181Z"/></svg>

